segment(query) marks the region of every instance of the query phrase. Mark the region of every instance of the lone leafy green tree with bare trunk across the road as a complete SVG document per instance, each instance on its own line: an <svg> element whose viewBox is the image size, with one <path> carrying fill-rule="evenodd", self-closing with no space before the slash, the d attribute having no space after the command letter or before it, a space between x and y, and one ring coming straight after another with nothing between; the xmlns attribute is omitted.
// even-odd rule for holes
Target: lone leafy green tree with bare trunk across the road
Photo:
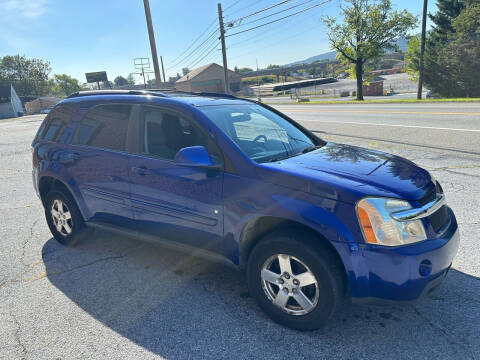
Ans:
<svg viewBox="0 0 480 360"><path fill-rule="evenodd" d="M394 11L390 0L345 0L348 7L341 9L343 23L326 17L328 39L332 49L355 65L357 100L363 100L364 65L395 50L395 39L406 36L417 23L407 10Z"/></svg>

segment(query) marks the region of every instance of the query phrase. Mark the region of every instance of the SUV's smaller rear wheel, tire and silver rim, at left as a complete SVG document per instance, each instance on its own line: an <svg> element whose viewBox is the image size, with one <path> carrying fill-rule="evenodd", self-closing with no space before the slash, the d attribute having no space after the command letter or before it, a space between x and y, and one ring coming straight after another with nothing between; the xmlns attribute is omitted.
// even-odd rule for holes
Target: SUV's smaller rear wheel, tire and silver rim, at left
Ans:
<svg viewBox="0 0 480 360"><path fill-rule="evenodd" d="M57 212L56 217L54 211ZM45 218L53 237L62 245L73 246L90 233L77 204L62 189L54 189L47 194Z"/></svg>

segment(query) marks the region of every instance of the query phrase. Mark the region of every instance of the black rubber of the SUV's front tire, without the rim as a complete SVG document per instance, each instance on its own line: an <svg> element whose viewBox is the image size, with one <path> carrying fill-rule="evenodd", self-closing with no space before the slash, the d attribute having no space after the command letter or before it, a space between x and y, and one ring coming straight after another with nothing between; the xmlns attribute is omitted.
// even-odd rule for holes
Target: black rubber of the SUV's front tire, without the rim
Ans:
<svg viewBox="0 0 480 360"><path fill-rule="evenodd" d="M276 254L287 254L301 260L315 275L319 299L315 309L305 315L291 315L274 305L266 296L260 272L265 261ZM329 264L318 249L296 241L289 236L268 237L260 242L249 257L247 280L250 293L259 306L276 322L297 330L315 330L324 325L335 312L340 301L339 284L332 275Z"/></svg>

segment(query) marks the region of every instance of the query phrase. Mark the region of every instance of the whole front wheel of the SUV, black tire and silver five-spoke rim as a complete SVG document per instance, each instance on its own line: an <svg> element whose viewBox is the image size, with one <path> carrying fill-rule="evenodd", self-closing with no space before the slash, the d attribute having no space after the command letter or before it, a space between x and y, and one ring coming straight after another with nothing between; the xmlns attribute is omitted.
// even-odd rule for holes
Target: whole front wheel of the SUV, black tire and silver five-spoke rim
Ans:
<svg viewBox="0 0 480 360"><path fill-rule="evenodd" d="M288 275L282 274L288 269L287 256ZM250 294L270 318L301 331L324 326L345 298L345 271L336 254L301 229L264 237L248 258L247 281Z"/></svg>

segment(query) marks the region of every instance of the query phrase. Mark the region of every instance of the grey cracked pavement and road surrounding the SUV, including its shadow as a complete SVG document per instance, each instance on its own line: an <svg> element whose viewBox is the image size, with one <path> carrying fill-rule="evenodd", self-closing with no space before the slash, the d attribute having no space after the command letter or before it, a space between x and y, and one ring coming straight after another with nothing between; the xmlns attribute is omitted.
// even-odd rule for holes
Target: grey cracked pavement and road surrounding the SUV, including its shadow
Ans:
<svg viewBox="0 0 480 360"><path fill-rule="evenodd" d="M234 270L135 239L58 245L31 185L41 117L0 120L1 359L479 359L480 105L278 106L318 135L405 156L443 184L462 243L444 284L406 305L349 305L299 333Z"/></svg>

